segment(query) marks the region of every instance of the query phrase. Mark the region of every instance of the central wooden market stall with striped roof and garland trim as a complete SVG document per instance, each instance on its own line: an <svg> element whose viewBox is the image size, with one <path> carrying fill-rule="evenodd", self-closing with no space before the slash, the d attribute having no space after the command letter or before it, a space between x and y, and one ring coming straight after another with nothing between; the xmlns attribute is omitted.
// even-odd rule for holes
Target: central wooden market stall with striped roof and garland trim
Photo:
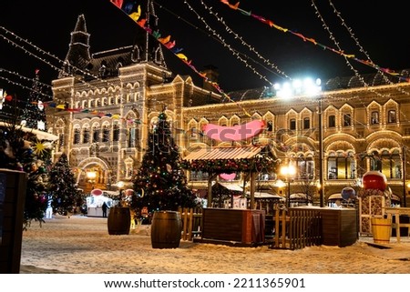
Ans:
<svg viewBox="0 0 410 292"><path fill-rule="evenodd" d="M195 240L246 246L263 243L265 211L255 209L255 179L262 170L274 170L276 159L271 147L201 147L182 161L186 169L209 173L208 206L212 206L212 180L216 176L241 172L250 179L250 208L204 208L202 237Z"/></svg>

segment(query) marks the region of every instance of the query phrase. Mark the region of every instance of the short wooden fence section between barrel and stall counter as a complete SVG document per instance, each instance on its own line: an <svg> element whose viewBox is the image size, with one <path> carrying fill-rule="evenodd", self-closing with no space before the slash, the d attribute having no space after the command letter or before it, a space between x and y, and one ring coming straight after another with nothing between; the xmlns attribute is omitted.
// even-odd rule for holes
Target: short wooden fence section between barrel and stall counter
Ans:
<svg viewBox="0 0 410 292"><path fill-rule="evenodd" d="M178 212L182 219L182 240L192 240L199 237L202 226L202 209L200 208L179 208Z"/></svg>

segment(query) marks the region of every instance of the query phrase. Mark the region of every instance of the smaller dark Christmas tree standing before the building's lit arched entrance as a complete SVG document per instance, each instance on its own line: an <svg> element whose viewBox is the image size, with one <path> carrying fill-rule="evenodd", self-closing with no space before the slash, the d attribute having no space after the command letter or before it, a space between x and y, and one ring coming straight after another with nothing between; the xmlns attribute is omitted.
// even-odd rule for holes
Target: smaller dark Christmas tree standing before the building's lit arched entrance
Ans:
<svg viewBox="0 0 410 292"><path fill-rule="evenodd" d="M77 189L76 179L68 165L68 158L63 153L51 167L49 195L52 198L53 212L61 215L69 215L73 207L81 200L82 192Z"/></svg>

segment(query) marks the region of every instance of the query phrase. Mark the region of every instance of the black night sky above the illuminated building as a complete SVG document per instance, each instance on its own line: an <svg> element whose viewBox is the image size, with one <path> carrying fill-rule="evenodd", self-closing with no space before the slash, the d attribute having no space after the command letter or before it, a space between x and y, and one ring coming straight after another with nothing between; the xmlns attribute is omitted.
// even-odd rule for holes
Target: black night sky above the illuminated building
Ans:
<svg viewBox="0 0 410 292"><path fill-rule="evenodd" d="M140 0L136 2L141 3ZM345 54L355 55L358 59L370 57L375 65L397 71L410 68L410 37L406 31L408 21L402 1L389 1L387 5L374 0L316 0L314 4L319 14L311 0L240 2L243 11L312 38L322 46L233 10L220 0L156 0L155 3L160 34L170 35L176 46L183 49L181 53L187 55L191 65L199 71L206 65L216 66L220 73L218 83L225 92L270 86L286 81L288 77L312 76L326 80L335 76L354 76L354 70L347 65L343 55L323 48L324 45L339 51L333 39ZM235 2L231 1L231 4ZM210 7L214 14L222 17L224 25L210 14ZM0 87L9 93L23 91L20 95L28 94L23 86L31 83L24 77L33 78L36 69L40 70L40 80L46 84L56 78L57 70L51 65L57 68L61 65L42 50L64 60L78 15L86 16L91 53L132 45L137 29L137 24L109 0L2 1L0 11L0 67L4 69L0 72ZM341 24L341 18L349 29ZM217 40L201 20L223 41ZM229 29L237 39L227 33ZM11 45L5 37L12 41L16 38L9 32L36 47L21 41L17 43L23 44L24 49ZM238 41L239 37L246 45ZM175 73L196 75L168 49L164 48L164 51L170 59L167 64ZM247 60L248 66L232 51ZM360 74L376 72L372 66L362 65L354 59L349 61ZM5 70L15 72L15 75Z"/></svg>

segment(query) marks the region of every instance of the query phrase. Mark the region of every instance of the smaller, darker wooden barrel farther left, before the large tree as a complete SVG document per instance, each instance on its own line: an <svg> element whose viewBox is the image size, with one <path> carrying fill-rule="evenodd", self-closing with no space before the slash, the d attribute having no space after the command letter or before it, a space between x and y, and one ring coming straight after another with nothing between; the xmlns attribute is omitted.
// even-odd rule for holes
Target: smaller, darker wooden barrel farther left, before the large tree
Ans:
<svg viewBox="0 0 410 292"><path fill-rule="evenodd" d="M128 235L131 225L131 214L128 206L113 206L109 208L108 234Z"/></svg>

